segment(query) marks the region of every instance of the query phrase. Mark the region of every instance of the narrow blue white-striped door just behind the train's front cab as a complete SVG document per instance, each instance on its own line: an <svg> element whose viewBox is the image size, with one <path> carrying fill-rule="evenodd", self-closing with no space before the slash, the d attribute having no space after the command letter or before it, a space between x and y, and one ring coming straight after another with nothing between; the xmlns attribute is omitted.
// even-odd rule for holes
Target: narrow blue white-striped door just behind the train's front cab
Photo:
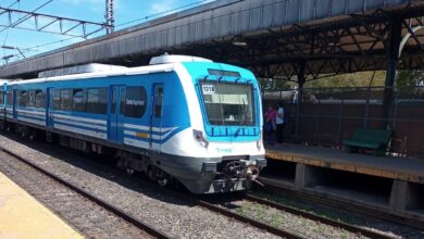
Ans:
<svg viewBox="0 0 424 239"><path fill-rule="evenodd" d="M154 84L150 112L150 148L161 151L163 84Z"/></svg>

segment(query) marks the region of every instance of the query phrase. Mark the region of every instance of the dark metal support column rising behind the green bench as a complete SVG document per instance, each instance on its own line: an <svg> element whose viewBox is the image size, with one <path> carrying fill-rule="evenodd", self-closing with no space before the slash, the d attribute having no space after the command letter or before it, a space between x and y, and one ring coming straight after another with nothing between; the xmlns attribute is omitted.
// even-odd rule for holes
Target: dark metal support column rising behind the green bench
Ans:
<svg viewBox="0 0 424 239"><path fill-rule="evenodd" d="M383 99L383 126L389 126L390 117L390 108L394 101L394 86L396 77L396 66L399 60L399 47L402 38L402 21L400 18L395 18L390 23L390 32L388 38L388 49L386 49L387 54L387 73L386 73L386 88L384 91Z"/></svg>

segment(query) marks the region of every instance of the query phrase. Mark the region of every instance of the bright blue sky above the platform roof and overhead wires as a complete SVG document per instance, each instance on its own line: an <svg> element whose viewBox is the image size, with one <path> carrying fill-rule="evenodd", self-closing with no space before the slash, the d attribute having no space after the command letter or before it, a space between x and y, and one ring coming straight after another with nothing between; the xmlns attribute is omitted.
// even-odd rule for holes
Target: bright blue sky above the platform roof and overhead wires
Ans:
<svg viewBox="0 0 424 239"><path fill-rule="evenodd" d="M200 4L205 4L214 0L114 0L115 29L134 26L157 18L173 12L183 11ZM95 23L104 23L105 0L0 0L0 8L9 8L27 12L42 13L54 16L84 20ZM41 8L40 8L41 7ZM12 14L12 23L25 20L25 14ZM138 20L138 21L136 21ZM133 22L136 21L136 22ZM125 24L132 22L129 24ZM48 18L39 18L38 24L49 23ZM5 64L4 56L13 55L8 61L13 62L22 60L34 54L54 50L75 43L85 38L62 36L49 33L38 33L34 30L17 29L15 27L4 27L9 24L8 14L2 14L0 10L0 46L18 48L0 48L0 65ZM125 25L122 25L125 24ZM34 18L28 18L17 25L24 28L35 28ZM68 22L63 23L63 28L70 28L73 25ZM59 23L46 27L46 30L58 32ZM95 27L87 27L87 32L96 30ZM68 34L82 35L82 27L71 30ZM104 35L105 30L90 35L88 38Z"/></svg>

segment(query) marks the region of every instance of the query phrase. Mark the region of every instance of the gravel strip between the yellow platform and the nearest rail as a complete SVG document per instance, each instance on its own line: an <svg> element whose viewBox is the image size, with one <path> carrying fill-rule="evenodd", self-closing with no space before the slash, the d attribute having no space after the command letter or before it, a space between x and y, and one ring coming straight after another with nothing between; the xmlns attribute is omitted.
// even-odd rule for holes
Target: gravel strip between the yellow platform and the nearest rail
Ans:
<svg viewBox="0 0 424 239"><path fill-rule="evenodd" d="M13 156L0 152L0 172L60 215L82 235L88 238L111 239L153 238Z"/></svg>

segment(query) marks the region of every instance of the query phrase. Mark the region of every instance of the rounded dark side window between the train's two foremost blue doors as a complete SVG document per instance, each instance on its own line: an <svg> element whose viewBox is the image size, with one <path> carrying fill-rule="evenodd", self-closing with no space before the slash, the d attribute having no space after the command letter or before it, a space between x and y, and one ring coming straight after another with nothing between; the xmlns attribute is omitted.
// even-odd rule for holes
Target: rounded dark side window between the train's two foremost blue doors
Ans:
<svg viewBox="0 0 424 239"><path fill-rule="evenodd" d="M145 87L127 87L124 115L127 117L141 117L146 111L146 100Z"/></svg>

